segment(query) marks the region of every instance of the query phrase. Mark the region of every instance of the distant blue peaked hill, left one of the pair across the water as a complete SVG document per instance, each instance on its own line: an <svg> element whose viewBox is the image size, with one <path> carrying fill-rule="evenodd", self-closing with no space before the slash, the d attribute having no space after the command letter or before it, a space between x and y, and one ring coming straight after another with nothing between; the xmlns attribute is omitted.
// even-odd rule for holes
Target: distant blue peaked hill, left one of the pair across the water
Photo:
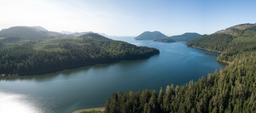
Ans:
<svg viewBox="0 0 256 113"><path fill-rule="evenodd" d="M164 35L159 31L145 31L144 33L140 34L139 36L135 37L136 40L144 40L144 39L159 39L159 38L167 38L168 36Z"/></svg>

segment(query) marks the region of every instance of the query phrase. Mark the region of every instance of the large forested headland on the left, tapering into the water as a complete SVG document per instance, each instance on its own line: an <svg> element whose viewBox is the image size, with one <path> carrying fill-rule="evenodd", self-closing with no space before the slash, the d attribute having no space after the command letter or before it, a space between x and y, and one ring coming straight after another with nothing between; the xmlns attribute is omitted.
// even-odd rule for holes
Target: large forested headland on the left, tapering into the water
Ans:
<svg viewBox="0 0 256 113"><path fill-rule="evenodd" d="M79 37L17 26L0 31L0 74L34 75L97 63L149 58L156 48L115 41L96 33Z"/></svg>

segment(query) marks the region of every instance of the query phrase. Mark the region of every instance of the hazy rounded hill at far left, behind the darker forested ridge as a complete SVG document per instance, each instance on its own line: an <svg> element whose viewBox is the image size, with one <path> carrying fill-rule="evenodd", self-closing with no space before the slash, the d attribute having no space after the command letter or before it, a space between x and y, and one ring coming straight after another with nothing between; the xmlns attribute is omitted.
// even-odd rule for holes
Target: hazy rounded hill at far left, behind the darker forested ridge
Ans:
<svg viewBox="0 0 256 113"><path fill-rule="evenodd" d="M58 32L40 30L43 27L27 27L27 26L15 26L0 31L0 37L20 37L24 39L54 39L63 37L74 37L74 35L64 35Z"/></svg>

